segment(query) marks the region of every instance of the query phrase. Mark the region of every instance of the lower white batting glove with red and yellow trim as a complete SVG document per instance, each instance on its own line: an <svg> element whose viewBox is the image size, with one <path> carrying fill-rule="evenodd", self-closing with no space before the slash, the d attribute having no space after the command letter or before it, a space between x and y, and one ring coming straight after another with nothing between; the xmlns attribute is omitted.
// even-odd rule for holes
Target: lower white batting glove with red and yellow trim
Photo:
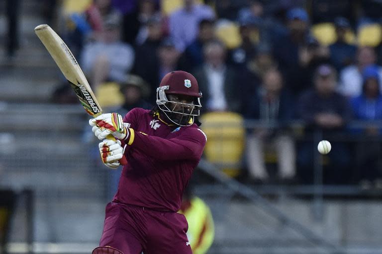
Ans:
<svg viewBox="0 0 382 254"><path fill-rule="evenodd" d="M103 164L110 168L117 168L120 165L118 160L122 158L124 152L121 141L105 139L98 144L98 147Z"/></svg>

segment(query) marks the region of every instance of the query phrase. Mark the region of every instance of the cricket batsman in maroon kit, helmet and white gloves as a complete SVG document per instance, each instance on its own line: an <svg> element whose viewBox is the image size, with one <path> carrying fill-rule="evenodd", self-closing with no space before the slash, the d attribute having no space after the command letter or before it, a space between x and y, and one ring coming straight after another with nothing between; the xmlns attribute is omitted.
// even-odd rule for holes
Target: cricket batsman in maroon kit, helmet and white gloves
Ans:
<svg viewBox="0 0 382 254"><path fill-rule="evenodd" d="M163 77L151 111L135 108L123 119L111 113L89 121L102 140L103 163L116 168L123 154L128 161L93 254L192 253L187 220L177 211L207 139L198 128L200 97L193 75L173 71Z"/></svg>

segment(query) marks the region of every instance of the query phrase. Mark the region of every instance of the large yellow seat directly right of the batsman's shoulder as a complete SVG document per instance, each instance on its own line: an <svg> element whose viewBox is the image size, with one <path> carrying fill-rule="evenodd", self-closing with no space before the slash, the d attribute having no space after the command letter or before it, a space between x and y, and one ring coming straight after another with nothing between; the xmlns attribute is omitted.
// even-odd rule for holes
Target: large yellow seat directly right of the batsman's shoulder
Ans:
<svg viewBox="0 0 382 254"><path fill-rule="evenodd" d="M200 121L207 135L205 158L227 175L238 176L245 147L243 117L233 112L210 112L202 115Z"/></svg>

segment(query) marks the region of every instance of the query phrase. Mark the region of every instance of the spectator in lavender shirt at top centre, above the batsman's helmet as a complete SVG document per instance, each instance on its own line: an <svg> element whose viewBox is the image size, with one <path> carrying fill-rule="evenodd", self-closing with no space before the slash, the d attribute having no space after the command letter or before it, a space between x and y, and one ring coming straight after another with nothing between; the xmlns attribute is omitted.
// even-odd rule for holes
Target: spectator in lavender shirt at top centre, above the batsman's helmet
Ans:
<svg viewBox="0 0 382 254"><path fill-rule="evenodd" d="M197 37L198 24L202 19L213 19L211 7L195 4L195 0L184 0L185 6L174 11L169 18L170 35L174 38L176 48L183 52Z"/></svg>

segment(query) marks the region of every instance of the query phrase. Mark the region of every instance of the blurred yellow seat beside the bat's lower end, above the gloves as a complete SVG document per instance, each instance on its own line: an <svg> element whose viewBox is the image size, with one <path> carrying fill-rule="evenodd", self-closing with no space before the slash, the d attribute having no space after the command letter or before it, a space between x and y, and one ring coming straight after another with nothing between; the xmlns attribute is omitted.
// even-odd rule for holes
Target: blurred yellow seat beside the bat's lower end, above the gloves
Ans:
<svg viewBox="0 0 382 254"><path fill-rule="evenodd" d="M124 98L119 91L119 85L115 82L106 82L100 84L95 89L95 98L103 108L117 107L123 104Z"/></svg>

